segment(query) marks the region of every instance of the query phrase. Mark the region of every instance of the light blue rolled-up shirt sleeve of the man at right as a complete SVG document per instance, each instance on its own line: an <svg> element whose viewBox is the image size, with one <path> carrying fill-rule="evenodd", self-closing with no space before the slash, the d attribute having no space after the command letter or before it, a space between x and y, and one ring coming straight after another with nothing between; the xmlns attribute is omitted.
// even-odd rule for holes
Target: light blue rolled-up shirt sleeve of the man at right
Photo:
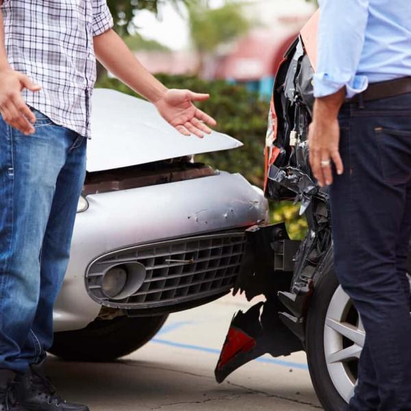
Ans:
<svg viewBox="0 0 411 411"><path fill-rule="evenodd" d="M345 86L351 98L368 87L368 78L356 72L364 47L369 0L319 0L319 5L314 96L332 95Z"/></svg>

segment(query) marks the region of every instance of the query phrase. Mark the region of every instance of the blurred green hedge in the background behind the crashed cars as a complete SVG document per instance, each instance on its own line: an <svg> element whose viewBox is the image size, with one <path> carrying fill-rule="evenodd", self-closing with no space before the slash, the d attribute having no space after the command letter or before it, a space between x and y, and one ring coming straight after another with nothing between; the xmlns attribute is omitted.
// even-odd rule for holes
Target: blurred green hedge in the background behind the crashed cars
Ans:
<svg viewBox="0 0 411 411"><path fill-rule="evenodd" d="M264 138L269 103L262 101L258 94L245 87L227 84L223 81L205 81L192 76L158 75L158 79L169 88L188 88L197 92L208 92L211 98L199 103L218 121L216 129L240 140L244 147L231 151L221 151L197 155L197 160L210 164L216 169L241 173L252 184L264 184ZM98 87L114 88L129 95L136 95L116 79L105 77L99 80ZM299 218L299 206L292 203L271 202L271 221L286 221L288 233L292 238L302 238L307 223Z"/></svg>

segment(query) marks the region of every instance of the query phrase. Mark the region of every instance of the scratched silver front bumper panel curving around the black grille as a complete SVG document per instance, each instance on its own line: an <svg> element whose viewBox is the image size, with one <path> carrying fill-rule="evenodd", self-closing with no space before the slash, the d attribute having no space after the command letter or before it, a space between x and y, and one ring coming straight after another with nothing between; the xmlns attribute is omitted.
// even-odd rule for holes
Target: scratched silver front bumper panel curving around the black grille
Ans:
<svg viewBox="0 0 411 411"><path fill-rule="evenodd" d="M84 275L95 258L135 245L247 227L268 220L262 190L225 172L169 184L92 194L77 214L69 269L55 305L55 331L80 329L101 306Z"/></svg>

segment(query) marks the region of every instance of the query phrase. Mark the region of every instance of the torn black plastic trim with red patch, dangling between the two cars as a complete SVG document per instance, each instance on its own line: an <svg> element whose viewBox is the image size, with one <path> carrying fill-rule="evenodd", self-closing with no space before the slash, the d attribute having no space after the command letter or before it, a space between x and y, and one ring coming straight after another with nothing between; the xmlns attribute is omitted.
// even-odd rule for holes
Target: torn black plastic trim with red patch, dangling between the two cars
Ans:
<svg viewBox="0 0 411 411"><path fill-rule="evenodd" d="M290 286L300 242L290 240L284 223L255 225L247 229L246 238L234 294L244 291L249 301L264 295L266 301L234 316L214 371L218 382L265 353L277 357L302 349L299 338L279 318L284 308L277 296Z"/></svg>

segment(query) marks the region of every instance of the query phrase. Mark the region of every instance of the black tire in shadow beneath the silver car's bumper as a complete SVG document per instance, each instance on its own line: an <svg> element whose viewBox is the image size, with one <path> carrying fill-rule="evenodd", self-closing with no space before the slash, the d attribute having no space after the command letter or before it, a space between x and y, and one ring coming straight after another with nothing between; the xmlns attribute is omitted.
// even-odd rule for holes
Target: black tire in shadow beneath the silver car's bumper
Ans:
<svg viewBox="0 0 411 411"><path fill-rule="evenodd" d="M113 361L148 343L160 331L167 317L168 314L96 319L84 329L56 332L49 351L69 361Z"/></svg>

